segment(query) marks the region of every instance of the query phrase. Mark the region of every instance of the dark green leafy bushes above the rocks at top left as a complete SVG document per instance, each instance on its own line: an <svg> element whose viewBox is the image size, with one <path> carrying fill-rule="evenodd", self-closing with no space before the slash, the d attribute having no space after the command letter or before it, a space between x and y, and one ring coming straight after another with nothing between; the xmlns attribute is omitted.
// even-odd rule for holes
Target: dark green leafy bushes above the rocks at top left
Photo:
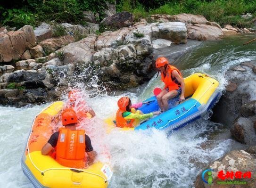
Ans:
<svg viewBox="0 0 256 188"><path fill-rule="evenodd" d="M107 2L115 0L12 0L0 5L0 24L11 27L39 25L55 20L57 23L86 25L83 11L99 12L100 20L105 16Z"/></svg>

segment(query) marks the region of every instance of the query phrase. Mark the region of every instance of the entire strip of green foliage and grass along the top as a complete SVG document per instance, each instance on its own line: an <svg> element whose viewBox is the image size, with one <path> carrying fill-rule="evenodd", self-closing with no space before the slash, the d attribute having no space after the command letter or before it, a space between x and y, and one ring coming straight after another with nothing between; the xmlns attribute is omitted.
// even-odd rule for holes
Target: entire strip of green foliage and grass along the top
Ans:
<svg viewBox="0 0 256 188"><path fill-rule="evenodd" d="M44 3L43 3L44 2ZM57 23L86 23L83 11L99 13L99 20L105 16L107 2L115 0L11 0L0 5L0 25L22 27L36 26L41 22L55 20ZM239 18L241 14L256 16L256 0L116 0L117 12L131 12L135 21L152 14L200 14L209 21L219 24L251 25L250 20ZM104 30L100 29L101 32ZM77 36L77 40L83 36Z"/></svg>

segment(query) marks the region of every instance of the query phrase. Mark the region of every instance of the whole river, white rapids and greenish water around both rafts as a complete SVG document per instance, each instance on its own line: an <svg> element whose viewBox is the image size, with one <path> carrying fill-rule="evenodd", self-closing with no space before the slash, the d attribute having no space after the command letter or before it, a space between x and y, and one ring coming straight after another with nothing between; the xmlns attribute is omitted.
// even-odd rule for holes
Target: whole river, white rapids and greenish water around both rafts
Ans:
<svg viewBox="0 0 256 188"><path fill-rule="evenodd" d="M225 70L231 65L256 60L256 42L242 46L253 38L256 36L239 35L221 41L202 42L176 60L174 65L182 70L184 76L201 72L215 77L223 90ZM94 132L91 135L92 145L99 154L106 149L111 154L109 162L114 175L110 188L192 188L198 172L207 163L230 150L244 148L231 139L225 125L209 120L210 113L172 133L157 130L106 133L104 119L116 113L116 102L120 96L127 95L132 102L139 102L148 98L159 84L159 77L155 75L138 89L115 96L101 93L94 98L86 98L97 114L90 122L90 129ZM1 188L33 187L21 170L20 159L33 118L48 105L0 106ZM100 155L99 159L107 160Z"/></svg>

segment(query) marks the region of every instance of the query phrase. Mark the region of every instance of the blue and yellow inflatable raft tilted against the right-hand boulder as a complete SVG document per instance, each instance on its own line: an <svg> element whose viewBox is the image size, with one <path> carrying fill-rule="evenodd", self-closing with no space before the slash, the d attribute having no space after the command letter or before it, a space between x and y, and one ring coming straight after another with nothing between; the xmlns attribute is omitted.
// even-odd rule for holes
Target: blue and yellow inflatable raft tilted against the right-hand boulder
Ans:
<svg viewBox="0 0 256 188"><path fill-rule="evenodd" d="M134 130L145 130L149 128L167 131L177 130L204 115L215 105L221 96L218 90L219 82L206 74L192 74L186 77L184 82L186 98L184 102L141 123ZM143 102L147 101L151 101L149 105L143 104L138 110L144 114L159 110L155 96ZM172 100L170 101L172 102Z"/></svg>

